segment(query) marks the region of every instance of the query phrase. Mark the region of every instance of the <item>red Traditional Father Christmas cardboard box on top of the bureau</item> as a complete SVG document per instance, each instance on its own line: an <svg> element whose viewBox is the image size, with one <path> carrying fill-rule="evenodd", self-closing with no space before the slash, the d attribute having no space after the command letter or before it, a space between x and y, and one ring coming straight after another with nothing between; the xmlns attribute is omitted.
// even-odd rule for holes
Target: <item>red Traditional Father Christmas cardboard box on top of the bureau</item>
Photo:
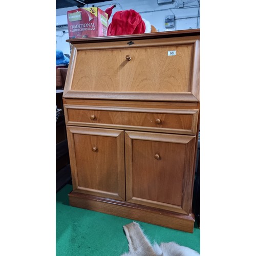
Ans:
<svg viewBox="0 0 256 256"><path fill-rule="evenodd" d="M69 38L106 36L108 14L98 7L78 8L68 11Z"/></svg>

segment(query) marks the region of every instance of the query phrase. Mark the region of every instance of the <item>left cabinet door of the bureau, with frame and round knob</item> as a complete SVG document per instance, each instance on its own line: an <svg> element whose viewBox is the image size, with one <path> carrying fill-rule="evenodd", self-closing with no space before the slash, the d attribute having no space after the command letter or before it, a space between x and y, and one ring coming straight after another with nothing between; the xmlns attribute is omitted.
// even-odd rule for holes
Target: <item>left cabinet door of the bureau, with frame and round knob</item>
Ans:
<svg viewBox="0 0 256 256"><path fill-rule="evenodd" d="M73 191L125 200L124 132L67 125Z"/></svg>

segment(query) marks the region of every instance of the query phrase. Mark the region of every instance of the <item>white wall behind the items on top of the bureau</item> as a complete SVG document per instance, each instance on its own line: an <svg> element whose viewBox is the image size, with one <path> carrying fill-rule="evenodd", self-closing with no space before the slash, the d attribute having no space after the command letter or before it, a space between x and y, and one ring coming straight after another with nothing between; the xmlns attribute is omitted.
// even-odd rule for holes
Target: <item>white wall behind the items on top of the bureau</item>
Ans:
<svg viewBox="0 0 256 256"><path fill-rule="evenodd" d="M113 9L109 23L111 23L112 16L117 11L133 9L141 14L141 16L148 20L159 31L165 31L164 19L166 15L174 14L174 27L169 30L185 30L200 28L200 0L177 0L171 4L158 5L157 0L119 0L107 1L94 4L102 10L116 4ZM84 7L92 7L92 4ZM77 9L76 6L71 8L63 8L56 10L56 49L63 51L63 53L70 54L68 27L57 26L68 24L67 11ZM63 33L62 31L65 31Z"/></svg>

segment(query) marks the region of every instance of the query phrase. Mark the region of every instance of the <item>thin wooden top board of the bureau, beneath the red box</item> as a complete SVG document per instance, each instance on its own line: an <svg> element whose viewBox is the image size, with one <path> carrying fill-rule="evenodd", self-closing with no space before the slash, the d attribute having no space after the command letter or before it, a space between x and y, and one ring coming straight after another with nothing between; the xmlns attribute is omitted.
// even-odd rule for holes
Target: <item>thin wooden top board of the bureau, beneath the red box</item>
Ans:
<svg viewBox="0 0 256 256"><path fill-rule="evenodd" d="M166 37L180 37L180 36L200 36L200 29L187 29L176 31L165 31L155 33L120 35L120 36L101 36L88 38L68 39L67 42L71 44L86 44L89 42L104 42L104 41L122 41L122 40L139 40L139 39L153 39Z"/></svg>

